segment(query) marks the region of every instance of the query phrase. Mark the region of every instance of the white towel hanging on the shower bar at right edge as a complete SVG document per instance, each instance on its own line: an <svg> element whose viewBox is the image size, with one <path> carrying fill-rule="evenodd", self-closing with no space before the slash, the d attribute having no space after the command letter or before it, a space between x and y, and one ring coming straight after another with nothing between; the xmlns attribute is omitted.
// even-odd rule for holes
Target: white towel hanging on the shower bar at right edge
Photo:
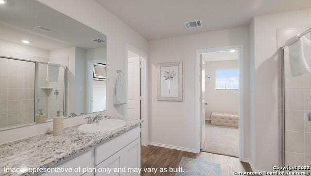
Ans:
<svg viewBox="0 0 311 176"><path fill-rule="evenodd" d="M286 42L288 45L284 48L284 57L289 57L292 76L299 76L310 72L309 65L306 61L304 48L310 47L311 41L305 36L300 38L293 37Z"/></svg>

